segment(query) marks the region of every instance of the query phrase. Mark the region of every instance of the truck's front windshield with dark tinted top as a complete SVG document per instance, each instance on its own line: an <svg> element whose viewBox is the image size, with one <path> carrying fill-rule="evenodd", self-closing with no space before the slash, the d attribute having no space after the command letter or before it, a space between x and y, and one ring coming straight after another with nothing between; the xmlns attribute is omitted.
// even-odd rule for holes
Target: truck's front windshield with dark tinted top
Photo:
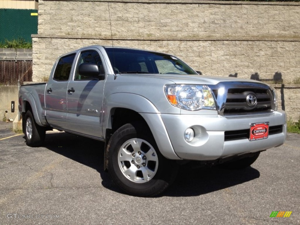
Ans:
<svg viewBox="0 0 300 225"><path fill-rule="evenodd" d="M114 73L197 74L172 55L136 49L105 48Z"/></svg>

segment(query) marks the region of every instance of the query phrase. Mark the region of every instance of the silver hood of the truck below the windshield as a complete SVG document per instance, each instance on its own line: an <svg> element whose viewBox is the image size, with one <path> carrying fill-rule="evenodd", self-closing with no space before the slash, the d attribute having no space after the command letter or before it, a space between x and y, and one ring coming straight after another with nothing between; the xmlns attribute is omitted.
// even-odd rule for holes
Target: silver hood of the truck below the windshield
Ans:
<svg viewBox="0 0 300 225"><path fill-rule="evenodd" d="M240 82L256 82L262 83L257 80L251 79L239 79L236 77L220 77L220 76L202 76L202 75L182 75L182 74L122 74L122 76L138 76L144 77L145 79L149 78L159 78L170 80L176 84L207 84L215 85L219 82L228 82L228 81L240 81Z"/></svg>

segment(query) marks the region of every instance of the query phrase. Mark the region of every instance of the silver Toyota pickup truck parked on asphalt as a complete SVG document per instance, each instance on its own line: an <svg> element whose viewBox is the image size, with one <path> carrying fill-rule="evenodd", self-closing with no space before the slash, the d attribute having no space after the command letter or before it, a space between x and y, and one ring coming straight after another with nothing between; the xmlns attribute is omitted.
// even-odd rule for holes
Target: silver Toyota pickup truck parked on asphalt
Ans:
<svg viewBox="0 0 300 225"><path fill-rule="evenodd" d="M173 55L88 46L60 56L49 82L22 85L29 146L53 128L105 142L104 168L125 192L162 193L189 161L241 169L286 138L274 88L201 76Z"/></svg>

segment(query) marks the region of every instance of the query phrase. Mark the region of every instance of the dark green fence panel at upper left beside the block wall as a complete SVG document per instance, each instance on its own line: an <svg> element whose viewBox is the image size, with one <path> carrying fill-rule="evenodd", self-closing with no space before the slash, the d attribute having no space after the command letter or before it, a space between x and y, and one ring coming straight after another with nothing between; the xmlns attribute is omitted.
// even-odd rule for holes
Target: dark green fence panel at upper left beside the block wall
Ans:
<svg viewBox="0 0 300 225"><path fill-rule="evenodd" d="M36 9L0 9L0 42L23 38L32 42L31 35L38 33L38 13Z"/></svg>

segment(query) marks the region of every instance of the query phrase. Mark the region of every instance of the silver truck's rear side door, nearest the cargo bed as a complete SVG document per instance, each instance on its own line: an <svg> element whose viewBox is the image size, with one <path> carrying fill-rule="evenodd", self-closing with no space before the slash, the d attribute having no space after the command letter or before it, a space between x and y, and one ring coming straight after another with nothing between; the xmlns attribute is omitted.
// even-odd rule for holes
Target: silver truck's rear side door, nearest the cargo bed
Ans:
<svg viewBox="0 0 300 225"><path fill-rule="evenodd" d="M67 128L67 87L76 52L61 57L45 91L46 119L57 128Z"/></svg>

